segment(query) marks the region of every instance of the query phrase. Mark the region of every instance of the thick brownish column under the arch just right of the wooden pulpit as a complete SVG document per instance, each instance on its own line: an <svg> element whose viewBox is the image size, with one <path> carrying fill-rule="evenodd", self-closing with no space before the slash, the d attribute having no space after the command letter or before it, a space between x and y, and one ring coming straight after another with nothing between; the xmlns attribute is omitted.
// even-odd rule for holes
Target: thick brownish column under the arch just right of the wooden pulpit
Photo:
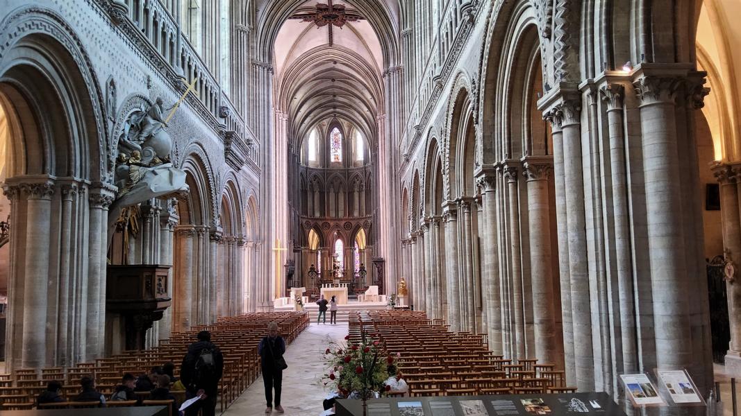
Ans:
<svg viewBox="0 0 741 416"><path fill-rule="evenodd" d="M179 331L186 331L196 323L193 321L193 266L196 263L196 254L193 247L196 239L196 227L187 225L176 229L178 235L178 275L175 282L175 310L174 325Z"/></svg>

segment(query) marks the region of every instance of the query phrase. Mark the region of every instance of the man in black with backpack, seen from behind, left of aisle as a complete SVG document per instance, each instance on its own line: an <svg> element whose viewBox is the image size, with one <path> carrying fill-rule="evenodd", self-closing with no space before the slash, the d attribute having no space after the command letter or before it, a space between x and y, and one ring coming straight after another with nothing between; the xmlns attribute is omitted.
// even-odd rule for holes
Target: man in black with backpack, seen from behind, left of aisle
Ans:
<svg viewBox="0 0 741 416"><path fill-rule="evenodd" d="M224 356L219 347L211 343L208 331L198 333L198 342L190 344L187 355L180 368L180 380L187 390L187 398L201 397L201 400L185 409L185 416L202 416L216 414L216 394L219 380L224 372Z"/></svg>

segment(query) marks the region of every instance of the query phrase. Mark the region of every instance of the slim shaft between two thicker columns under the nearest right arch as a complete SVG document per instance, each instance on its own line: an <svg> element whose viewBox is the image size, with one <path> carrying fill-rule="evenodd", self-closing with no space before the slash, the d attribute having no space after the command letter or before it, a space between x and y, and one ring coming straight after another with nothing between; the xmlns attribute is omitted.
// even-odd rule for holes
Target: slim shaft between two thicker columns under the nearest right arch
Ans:
<svg viewBox="0 0 741 416"><path fill-rule="evenodd" d="M509 212L509 238L510 238L510 281L512 298L514 301L514 352L516 359L527 358L525 356L525 310L523 309L524 298L522 288L522 253L519 235L519 191L518 161L503 161L505 181L508 190L508 212Z"/></svg>

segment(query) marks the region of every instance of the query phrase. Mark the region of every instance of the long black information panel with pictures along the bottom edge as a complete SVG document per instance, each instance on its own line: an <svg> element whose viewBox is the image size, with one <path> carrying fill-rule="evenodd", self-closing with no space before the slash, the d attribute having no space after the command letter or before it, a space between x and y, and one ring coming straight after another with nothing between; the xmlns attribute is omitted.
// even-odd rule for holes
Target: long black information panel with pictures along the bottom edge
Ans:
<svg viewBox="0 0 741 416"><path fill-rule="evenodd" d="M337 400L337 416L362 416L360 400ZM368 400L368 416L625 416L607 393L393 397Z"/></svg>

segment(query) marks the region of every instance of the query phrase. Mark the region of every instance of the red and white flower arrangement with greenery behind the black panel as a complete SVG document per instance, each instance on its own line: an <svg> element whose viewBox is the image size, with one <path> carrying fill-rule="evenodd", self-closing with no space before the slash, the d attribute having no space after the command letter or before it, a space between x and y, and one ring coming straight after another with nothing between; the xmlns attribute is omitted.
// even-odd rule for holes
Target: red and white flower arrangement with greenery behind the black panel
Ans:
<svg viewBox="0 0 741 416"><path fill-rule="evenodd" d="M333 343L325 351L328 372L322 378L325 386L332 386L347 397L356 392L363 402L374 392L387 392L391 387L384 384L388 379L388 366L394 365L398 355L388 355L381 346L378 334L370 337L363 333L362 341L343 346Z"/></svg>

